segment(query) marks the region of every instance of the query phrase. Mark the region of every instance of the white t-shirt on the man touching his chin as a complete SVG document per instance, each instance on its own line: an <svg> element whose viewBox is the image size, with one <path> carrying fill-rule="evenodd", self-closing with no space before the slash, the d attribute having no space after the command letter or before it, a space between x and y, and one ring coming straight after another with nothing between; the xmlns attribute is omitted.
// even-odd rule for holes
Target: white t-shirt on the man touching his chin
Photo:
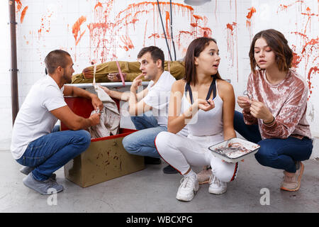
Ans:
<svg viewBox="0 0 319 227"><path fill-rule="evenodd" d="M162 75L154 84L154 81L150 81L147 86L148 93L142 99L145 104L152 106L152 115L156 118L159 126L166 126L168 121L168 108L169 108L169 96L171 94L172 85L176 79L167 71L164 71ZM153 86L154 85L154 86ZM187 128L185 127L180 131L181 135L187 135Z"/></svg>

